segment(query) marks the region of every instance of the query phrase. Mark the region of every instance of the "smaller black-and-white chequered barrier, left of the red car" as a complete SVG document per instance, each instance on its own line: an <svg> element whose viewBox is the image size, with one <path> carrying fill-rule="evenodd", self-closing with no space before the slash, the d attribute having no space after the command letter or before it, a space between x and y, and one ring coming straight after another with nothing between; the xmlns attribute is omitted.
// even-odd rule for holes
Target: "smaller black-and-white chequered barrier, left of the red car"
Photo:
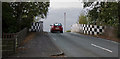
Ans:
<svg viewBox="0 0 120 59"><path fill-rule="evenodd" d="M29 31L30 32L42 32L43 31L43 21L33 22Z"/></svg>

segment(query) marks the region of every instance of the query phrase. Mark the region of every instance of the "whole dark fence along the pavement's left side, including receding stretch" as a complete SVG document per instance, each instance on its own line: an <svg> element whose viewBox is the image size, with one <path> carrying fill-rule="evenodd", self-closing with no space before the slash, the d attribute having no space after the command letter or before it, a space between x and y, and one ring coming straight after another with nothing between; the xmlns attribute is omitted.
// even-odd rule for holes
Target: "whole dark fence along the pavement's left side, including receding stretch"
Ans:
<svg viewBox="0 0 120 59"><path fill-rule="evenodd" d="M26 35L27 35L27 28L17 33L3 33L2 34L2 57L16 53L16 49L20 47Z"/></svg>

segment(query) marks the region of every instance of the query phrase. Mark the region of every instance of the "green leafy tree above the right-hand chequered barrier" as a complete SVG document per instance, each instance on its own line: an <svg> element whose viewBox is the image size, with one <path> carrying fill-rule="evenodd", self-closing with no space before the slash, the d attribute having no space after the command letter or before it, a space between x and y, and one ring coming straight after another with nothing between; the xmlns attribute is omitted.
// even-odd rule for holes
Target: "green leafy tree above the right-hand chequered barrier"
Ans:
<svg viewBox="0 0 120 59"><path fill-rule="evenodd" d="M118 26L118 3L117 2L85 2L84 8L93 6L87 16L91 17L93 24Z"/></svg>

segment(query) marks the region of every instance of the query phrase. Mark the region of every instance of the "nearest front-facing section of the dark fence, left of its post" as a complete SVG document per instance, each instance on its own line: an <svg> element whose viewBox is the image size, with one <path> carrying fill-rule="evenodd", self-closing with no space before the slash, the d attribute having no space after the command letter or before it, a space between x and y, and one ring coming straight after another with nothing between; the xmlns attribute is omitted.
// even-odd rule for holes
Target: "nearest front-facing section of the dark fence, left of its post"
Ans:
<svg viewBox="0 0 120 59"><path fill-rule="evenodd" d="M14 33L3 34L2 37L2 56L14 54L16 50L16 40Z"/></svg>

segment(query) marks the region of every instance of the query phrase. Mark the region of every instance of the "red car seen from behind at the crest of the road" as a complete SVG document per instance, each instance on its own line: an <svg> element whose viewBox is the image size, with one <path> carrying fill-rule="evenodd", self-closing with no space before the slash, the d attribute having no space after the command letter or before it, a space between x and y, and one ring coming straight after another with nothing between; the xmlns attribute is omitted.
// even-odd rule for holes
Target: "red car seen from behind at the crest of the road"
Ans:
<svg viewBox="0 0 120 59"><path fill-rule="evenodd" d="M51 26L51 33L59 31L60 33L63 33L63 27L61 23L55 23L50 25Z"/></svg>

